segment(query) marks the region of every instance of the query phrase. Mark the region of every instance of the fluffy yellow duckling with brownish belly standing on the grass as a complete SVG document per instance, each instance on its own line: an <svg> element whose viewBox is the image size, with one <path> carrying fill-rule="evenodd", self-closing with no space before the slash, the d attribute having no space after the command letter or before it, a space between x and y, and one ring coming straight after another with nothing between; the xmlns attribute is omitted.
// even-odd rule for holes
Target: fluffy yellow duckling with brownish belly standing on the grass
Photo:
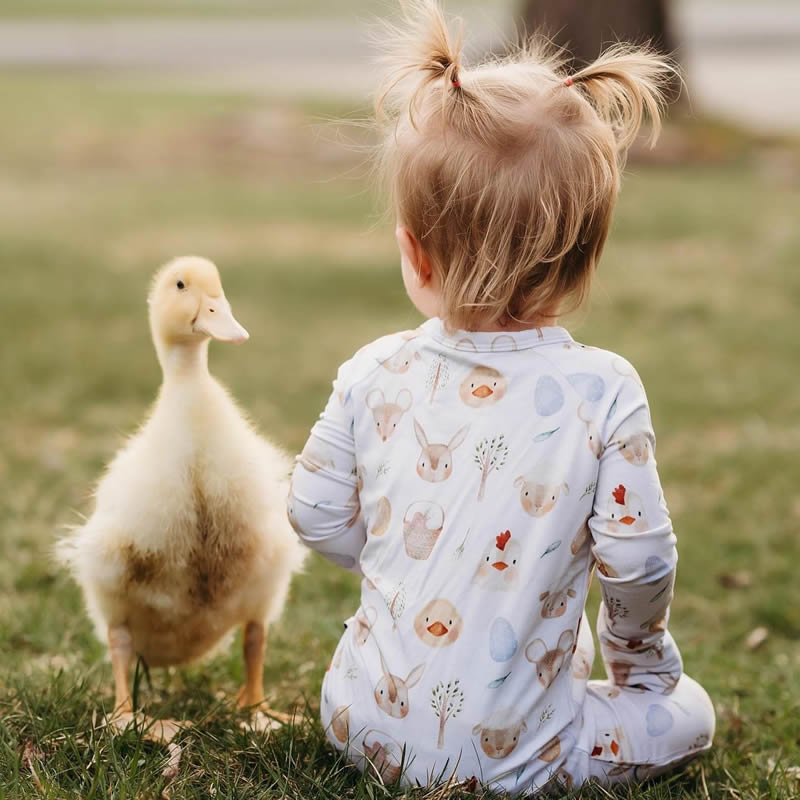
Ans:
<svg viewBox="0 0 800 800"><path fill-rule="evenodd" d="M262 707L267 628L305 554L286 517L287 456L208 371L211 339L249 338L216 266L171 261L156 273L148 304L163 372L158 398L101 479L92 516L56 550L108 646L117 727L133 717L134 655L148 666L186 664L238 625L246 674L239 705ZM179 727L155 722L150 738L169 741Z"/></svg>

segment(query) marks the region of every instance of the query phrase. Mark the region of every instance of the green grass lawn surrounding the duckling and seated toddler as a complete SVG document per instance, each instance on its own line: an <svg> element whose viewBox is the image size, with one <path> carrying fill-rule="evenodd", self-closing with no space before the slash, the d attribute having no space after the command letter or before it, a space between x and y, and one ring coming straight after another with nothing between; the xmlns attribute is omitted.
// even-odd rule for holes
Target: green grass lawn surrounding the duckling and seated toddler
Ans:
<svg viewBox="0 0 800 800"><path fill-rule="evenodd" d="M342 763L317 722L350 576L313 558L271 635L270 696L306 705L296 729L240 730L235 647L139 682L149 712L196 722L165 786L163 748L97 728L110 669L49 556L154 396L144 296L160 262L219 263L252 338L215 346L212 367L294 451L337 365L416 324L359 156L308 109L242 95L8 73L0 92L0 798L398 796ZM719 717L687 774L614 797L800 791L785 772L800 763L798 163L787 148L633 165L594 300L571 322L648 387L680 540L671 626ZM749 588L721 585L741 570ZM769 638L748 651L759 625Z"/></svg>

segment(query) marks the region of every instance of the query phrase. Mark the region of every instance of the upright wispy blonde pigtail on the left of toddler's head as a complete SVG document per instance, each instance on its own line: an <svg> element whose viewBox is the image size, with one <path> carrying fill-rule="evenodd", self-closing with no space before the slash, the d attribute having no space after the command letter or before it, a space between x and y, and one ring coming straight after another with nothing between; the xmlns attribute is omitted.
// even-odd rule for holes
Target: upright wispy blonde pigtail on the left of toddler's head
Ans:
<svg viewBox="0 0 800 800"><path fill-rule="evenodd" d="M403 21L385 23L380 42L387 76L376 103L378 116L394 99L408 109L412 124L414 112L424 91L437 82L444 87L443 102L449 94L463 92L461 86L461 32L453 36L437 0L404 0ZM401 85L409 89L393 97Z"/></svg>

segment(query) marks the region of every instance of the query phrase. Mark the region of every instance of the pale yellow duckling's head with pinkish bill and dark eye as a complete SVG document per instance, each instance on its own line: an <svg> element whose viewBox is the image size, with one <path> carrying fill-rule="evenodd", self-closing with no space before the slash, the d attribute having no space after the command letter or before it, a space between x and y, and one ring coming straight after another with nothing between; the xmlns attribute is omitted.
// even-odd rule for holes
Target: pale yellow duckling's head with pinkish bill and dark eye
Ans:
<svg viewBox="0 0 800 800"><path fill-rule="evenodd" d="M181 256L165 264L153 278L148 305L160 355L174 346L199 346L209 339L250 338L233 316L216 266L205 258Z"/></svg>

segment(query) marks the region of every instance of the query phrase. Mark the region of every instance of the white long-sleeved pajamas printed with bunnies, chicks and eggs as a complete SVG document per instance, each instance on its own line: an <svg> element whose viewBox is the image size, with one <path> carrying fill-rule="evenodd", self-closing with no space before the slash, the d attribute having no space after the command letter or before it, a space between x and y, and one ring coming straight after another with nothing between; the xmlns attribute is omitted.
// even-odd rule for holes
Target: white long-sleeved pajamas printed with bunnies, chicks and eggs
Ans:
<svg viewBox="0 0 800 800"><path fill-rule="evenodd" d="M340 368L288 513L362 577L321 703L360 767L523 793L710 746L667 630L675 536L625 359L560 327L379 339ZM595 567L605 683L581 624Z"/></svg>

